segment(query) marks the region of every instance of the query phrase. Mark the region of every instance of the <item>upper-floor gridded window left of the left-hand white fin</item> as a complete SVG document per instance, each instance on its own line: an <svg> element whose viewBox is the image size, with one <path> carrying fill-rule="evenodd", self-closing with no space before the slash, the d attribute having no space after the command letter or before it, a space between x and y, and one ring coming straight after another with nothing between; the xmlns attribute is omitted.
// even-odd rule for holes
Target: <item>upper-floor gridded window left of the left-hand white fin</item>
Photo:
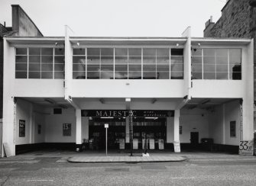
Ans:
<svg viewBox="0 0 256 186"><path fill-rule="evenodd" d="M64 79L63 48L16 48L16 79Z"/></svg>

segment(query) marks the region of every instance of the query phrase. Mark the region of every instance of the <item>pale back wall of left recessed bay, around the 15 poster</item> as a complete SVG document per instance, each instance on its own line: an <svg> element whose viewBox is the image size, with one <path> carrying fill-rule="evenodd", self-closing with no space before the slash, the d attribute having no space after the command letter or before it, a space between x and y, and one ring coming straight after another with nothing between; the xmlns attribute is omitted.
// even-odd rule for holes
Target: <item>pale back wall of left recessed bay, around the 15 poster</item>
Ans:
<svg viewBox="0 0 256 186"><path fill-rule="evenodd" d="M46 143L76 143L76 113L73 108L63 109L62 114L46 115L45 142ZM63 123L71 123L71 136L63 136Z"/></svg>

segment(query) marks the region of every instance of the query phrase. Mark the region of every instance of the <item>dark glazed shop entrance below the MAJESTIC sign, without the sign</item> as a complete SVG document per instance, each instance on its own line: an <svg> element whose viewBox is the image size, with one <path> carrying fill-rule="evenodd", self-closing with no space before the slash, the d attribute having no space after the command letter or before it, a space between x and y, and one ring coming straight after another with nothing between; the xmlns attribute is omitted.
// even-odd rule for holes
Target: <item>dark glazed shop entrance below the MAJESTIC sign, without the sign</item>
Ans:
<svg viewBox="0 0 256 186"><path fill-rule="evenodd" d="M108 149L119 149L120 143L125 143L126 117L89 117L89 149L105 149L105 123L109 123ZM158 149L159 140L166 143L166 117L133 117L132 123L133 139L137 143L134 149L144 149L145 135L148 143L154 143L151 144L154 149Z"/></svg>

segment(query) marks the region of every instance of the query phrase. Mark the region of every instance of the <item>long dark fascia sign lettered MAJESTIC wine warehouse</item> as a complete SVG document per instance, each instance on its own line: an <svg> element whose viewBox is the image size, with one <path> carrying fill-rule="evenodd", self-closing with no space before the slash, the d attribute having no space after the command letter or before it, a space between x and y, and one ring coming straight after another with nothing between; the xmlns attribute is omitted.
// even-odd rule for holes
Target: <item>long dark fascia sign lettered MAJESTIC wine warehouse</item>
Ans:
<svg viewBox="0 0 256 186"><path fill-rule="evenodd" d="M173 117L174 111L82 110L82 117Z"/></svg>

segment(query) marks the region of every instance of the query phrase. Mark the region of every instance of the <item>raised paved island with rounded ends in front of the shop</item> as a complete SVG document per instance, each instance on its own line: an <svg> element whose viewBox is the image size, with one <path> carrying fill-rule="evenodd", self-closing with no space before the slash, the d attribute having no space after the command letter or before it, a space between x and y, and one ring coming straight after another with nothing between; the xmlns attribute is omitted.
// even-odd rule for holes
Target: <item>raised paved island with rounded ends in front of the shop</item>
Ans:
<svg viewBox="0 0 256 186"><path fill-rule="evenodd" d="M76 163L102 163L102 162L182 162L183 156L74 156L67 159Z"/></svg>

